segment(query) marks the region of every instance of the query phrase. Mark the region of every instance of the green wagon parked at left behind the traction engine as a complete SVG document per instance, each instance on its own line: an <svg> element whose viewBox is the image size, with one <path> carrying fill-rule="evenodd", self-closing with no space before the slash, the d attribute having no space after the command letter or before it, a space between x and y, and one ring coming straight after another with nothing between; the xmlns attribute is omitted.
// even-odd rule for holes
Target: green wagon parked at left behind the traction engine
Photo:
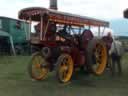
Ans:
<svg viewBox="0 0 128 96"><path fill-rule="evenodd" d="M24 54L28 53L28 30L29 30L29 23L0 16L0 30L2 33L9 34L12 37L13 45L16 51L16 54ZM3 36L1 35L1 38ZM3 40L4 42L1 43L6 49L6 52L10 52L10 41ZM3 47L1 47L3 49ZM29 49L30 50L30 49Z"/></svg>

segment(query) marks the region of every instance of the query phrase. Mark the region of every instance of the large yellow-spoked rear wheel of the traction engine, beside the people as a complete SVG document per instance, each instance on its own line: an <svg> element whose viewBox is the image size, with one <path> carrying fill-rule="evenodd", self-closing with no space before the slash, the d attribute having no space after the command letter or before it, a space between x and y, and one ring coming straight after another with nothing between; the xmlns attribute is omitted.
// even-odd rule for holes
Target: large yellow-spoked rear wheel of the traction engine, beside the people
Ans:
<svg viewBox="0 0 128 96"><path fill-rule="evenodd" d="M102 40L95 38L88 43L87 58L93 73L101 75L107 64L107 49Z"/></svg>

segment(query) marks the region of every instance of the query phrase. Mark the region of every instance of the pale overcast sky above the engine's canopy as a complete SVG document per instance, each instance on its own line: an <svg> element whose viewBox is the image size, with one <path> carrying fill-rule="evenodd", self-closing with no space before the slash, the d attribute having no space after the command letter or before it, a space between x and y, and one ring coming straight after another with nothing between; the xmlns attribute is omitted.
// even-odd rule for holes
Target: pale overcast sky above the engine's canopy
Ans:
<svg viewBox="0 0 128 96"><path fill-rule="evenodd" d="M49 7L49 0L0 0L0 16L17 18L18 11L26 7ZM60 11L111 20L123 18L128 0L58 0Z"/></svg>

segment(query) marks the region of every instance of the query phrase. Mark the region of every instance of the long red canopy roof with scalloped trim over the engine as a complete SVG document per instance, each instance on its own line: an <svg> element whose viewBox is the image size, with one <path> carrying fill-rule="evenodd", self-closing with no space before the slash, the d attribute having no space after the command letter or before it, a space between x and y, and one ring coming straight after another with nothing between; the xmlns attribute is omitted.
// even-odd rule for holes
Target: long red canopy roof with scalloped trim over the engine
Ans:
<svg viewBox="0 0 128 96"><path fill-rule="evenodd" d="M57 23L73 24L78 26L93 25L93 26L109 26L109 22L98 20L94 18L89 18L85 16L69 14L65 12L60 12L52 9L46 9L41 7L30 7L25 8L19 12L19 18L33 21L40 21L41 16L44 14L48 15L50 21L55 21Z"/></svg>

